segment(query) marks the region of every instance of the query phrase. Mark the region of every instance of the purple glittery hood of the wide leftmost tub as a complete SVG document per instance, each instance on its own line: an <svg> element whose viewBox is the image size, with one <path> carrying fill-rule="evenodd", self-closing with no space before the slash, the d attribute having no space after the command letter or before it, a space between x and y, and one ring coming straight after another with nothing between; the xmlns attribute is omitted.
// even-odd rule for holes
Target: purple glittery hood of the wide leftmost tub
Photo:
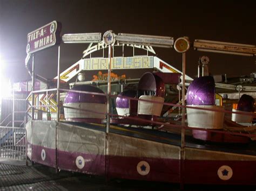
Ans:
<svg viewBox="0 0 256 191"><path fill-rule="evenodd" d="M90 91L104 94L104 92L99 88L90 85L76 86L72 90ZM106 96L68 91L64 103L106 103Z"/></svg>

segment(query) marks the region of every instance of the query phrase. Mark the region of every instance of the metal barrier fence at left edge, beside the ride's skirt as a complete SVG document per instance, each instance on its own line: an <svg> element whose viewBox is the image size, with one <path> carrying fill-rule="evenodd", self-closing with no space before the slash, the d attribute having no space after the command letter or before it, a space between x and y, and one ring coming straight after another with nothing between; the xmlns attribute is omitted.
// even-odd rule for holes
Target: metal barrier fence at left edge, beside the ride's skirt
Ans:
<svg viewBox="0 0 256 191"><path fill-rule="evenodd" d="M26 130L0 126L0 157L26 159Z"/></svg>

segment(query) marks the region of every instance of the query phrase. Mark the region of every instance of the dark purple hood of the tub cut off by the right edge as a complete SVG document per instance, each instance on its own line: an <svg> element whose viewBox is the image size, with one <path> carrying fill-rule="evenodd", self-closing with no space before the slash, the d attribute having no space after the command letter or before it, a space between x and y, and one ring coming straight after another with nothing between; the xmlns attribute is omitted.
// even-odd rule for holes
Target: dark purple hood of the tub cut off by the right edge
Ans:
<svg viewBox="0 0 256 191"><path fill-rule="evenodd" d="M250 95L242 95L239 99L237 109L240 111L254 112L254 98Z"/></svg>

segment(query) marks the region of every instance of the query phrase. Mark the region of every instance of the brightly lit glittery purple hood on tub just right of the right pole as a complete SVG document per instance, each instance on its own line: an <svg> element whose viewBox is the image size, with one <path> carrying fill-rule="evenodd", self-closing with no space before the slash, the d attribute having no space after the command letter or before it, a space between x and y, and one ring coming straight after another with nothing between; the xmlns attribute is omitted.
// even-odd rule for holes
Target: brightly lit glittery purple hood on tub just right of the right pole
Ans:
<svg viewBox="0 0 256 191"><path fill-rule="evenodd" d="M215 83L212 76L197 77L187 89L187 105L214 105Z"/></svg>

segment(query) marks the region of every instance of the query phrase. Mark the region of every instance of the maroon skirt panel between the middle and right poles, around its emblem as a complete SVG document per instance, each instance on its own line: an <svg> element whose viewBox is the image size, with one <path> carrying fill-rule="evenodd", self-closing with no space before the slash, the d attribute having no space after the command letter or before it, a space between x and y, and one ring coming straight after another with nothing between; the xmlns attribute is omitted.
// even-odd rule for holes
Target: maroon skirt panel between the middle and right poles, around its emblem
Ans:
<svg viewBox="0 0 256 191"><path fill-rule="evenodd" d="M150 165L147 175L140 175L137 165L146 161ZM113 178L124 178L147 181L179 182L180 162L177 159L109 157L109 175Z"/></svg>

